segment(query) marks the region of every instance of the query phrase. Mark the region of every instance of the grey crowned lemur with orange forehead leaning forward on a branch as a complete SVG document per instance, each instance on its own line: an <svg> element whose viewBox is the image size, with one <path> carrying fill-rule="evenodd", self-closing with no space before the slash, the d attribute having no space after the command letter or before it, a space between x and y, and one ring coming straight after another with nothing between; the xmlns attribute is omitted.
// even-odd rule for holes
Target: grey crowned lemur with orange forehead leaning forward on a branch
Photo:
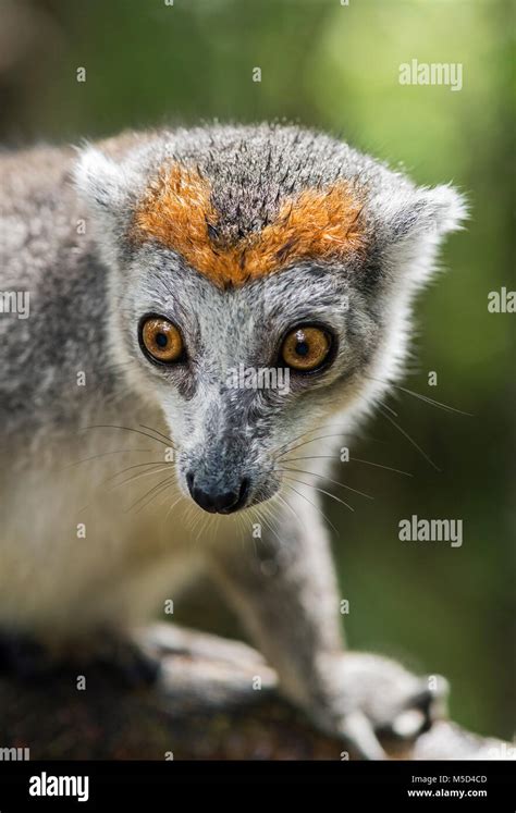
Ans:
<svg viewBox="0 0 516 813"><path fill-rule="evenodd" d="M319 727L369 757L417 734L439 691L345 652L318 496L462 197L268 124L5 151L0 174L3 638L94 652L206 568Z"/></svg>

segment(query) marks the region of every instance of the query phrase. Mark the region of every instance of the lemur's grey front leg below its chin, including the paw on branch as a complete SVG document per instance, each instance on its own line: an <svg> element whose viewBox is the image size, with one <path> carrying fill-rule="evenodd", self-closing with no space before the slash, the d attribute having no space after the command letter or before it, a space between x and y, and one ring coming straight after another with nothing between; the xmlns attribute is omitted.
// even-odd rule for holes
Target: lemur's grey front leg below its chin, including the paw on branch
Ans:
<svg viewBox="0 0 516 813"><path fill-rule="evenodd" d="M445 681L432 689L388 658L346 653L324 529L314 516L293 522L291 514L279 535L213 549L216 578L283 693L358 756L383 759L377 734L411 739L426 730Z"/></svg>

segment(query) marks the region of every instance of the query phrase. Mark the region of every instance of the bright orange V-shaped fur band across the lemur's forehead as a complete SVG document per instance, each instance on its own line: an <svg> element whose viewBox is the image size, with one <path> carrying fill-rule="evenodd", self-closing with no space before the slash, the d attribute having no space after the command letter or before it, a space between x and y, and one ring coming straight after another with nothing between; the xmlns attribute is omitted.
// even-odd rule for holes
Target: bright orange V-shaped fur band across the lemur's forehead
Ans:
<svg viewBox="0 0 516 813"><path fill-rule="evenodd" d="M160 169L134 213L132 242L157 241L220 287L294 261L342 260L365 247L363 204L344 180L279 198L261 222L237 230L224 221L216 201L199 168L171 162Z"/></svg>

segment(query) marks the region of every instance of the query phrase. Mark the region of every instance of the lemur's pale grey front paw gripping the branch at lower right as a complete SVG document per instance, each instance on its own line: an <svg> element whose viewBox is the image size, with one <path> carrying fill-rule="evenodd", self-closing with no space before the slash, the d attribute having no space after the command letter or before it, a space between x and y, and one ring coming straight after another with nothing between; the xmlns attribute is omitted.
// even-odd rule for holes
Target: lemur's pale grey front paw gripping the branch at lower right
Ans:
<svg viewBox="0 0 516 813"><path fill-rule="evenodd" d="M380 739L410 743L445 714L449 686L440 675L416 677L366 653L332 660L328 675L332 700L321 703L316 722L361 759L385 759Z"/></svg>

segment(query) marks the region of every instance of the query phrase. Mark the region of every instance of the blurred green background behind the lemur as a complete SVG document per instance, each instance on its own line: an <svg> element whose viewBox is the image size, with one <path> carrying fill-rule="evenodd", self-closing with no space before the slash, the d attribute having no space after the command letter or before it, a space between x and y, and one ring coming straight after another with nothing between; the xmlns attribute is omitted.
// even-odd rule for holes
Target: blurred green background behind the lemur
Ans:
<svg viewBox="0 0 516 813"><path fill-rule="evenodd" d="M374 495L372 509L360 497L354 514L331 501L324 509L339 529L349 644L446 675L455 719L504 737L515 717L516 317L487 305L490 291L516 287L513 10L493 0L0 0L4 144L287 119L403 162L419 183L467 192L472 217L446 244L450 273L419 303L404 383L472 416L400 393L396 420L441 471L378 416L352 454L414 477L349 464L347 482ZM413 58L463 63L463 89L400 85ZM463 546L400 542L397 523L411 514L463 519ZM208 626L212 602L197 591L177 617Z"/></svg>

